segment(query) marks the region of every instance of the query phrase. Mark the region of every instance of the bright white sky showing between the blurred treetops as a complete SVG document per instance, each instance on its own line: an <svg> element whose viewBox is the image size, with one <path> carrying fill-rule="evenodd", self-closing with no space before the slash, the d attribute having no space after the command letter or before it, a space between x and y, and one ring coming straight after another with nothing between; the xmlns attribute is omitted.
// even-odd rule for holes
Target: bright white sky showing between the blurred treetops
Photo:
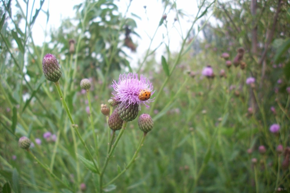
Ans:
<svg viewBox="0 0 290 193"><path fill-rule="evenodd" d="M56 29L60 26L61 21L64 18L72 18L74 17L75 10L73 9L74 5L80 4L84 0L45 0L45 3L42 6L42 9L44 11L47 11L47 8L49 9L50 17L47 25L47 32L49 34L50 29ZM19 1L22 4L23 10L25 11L25 5L23 1ZM30 6L32 5L33 1L30 1ZM182 26L182 33L185 35L190 28L190 24L188 21L193 21L195 14L197 13L197 2L200 2L200 0L177 0L177 9L182 9L183 12L191 16L180 18L180 23ZM13 2L16 4L16 1ZM12 4L13 4L12 3ZM129 4L129 0L120 0L120 1L114 1L114 3L119 7L119 11L124 15L127 5ZM35 1L34 9L39 8L40 1ZM146 6L146 11L144 9L144 6ZM30 7L31 10L31 7ZM28 12L30 13L30 11ZM33 11L34 15L35 11ZM141 18L138 19L131 15L131 13L136 14ZM131 53L128 49L128 54L133 59L129 59L130 62L133 62L137 64L138 60L142 60L142 57L144 57L145 50L148 49L150 39L149 36L153 36L158 23L160 21L160 18L162 17L163 13L163 6L161 0L132 0L131 6L129 8L129 13L127 14L128 17L133 18L137 22L137 29L135 31L141 36L141 39L138 37L133 37L133 42L137 42L137 52ZM32 16L33 16L32 15ZM178 33L180 32L180 27L177 22L174 23L176 28L173 28L173 22L175 18L175 12L170 11L170 13L167 16L168 21L168 30L169 30L169 36L170 36L170 50L171 51L178 51L181 45L181 37ZM35 24L32 29L33 34L33 40L35 44L42 45L44 41L49 42L50 37L49 35L45 37L45 25L46 25L46 15L42 11L40 11ZM197 25L195 26L197 28ZM158 33L156 34L153 44L151 45L151 50L155 49L161 42L162 36L166 35L166 28L161 26L161 28L158 29ZM167 40L165 40L167 42ZM158 61L161 60L161 55L163 54L164 46L159 48L156 59Z"/></svg>

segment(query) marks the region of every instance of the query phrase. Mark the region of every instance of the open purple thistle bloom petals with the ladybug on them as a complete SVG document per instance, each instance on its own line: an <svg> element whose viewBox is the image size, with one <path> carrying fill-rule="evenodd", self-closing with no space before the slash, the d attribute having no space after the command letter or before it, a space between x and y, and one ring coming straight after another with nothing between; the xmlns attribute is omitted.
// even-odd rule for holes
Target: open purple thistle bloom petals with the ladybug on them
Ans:
<svg viewBox="0 0 290 193"><path fill-rule="evenodd" d="M149 89L151 95L155 92L153 90L153 86L145 76L141 75L140 80L138 78L138 74L136 73L128 73L128 74L120 74L119 81L116 82L115 80L112 82L112 87L117 93L112 93L114 100L119 102L126 102L127 106L134 105L134 104L144 104L146 107L148 105L146 103L153 102L153 99L142 101L139 99L139 93L143 89Z"/></svg>

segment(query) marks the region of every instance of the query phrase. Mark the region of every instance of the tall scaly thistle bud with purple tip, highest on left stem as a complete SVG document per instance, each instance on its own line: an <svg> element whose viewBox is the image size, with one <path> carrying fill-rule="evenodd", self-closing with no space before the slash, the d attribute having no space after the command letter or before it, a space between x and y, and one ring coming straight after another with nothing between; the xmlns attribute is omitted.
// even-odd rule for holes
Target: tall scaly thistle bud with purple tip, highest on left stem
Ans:
<svg viewBox="0 0 290 193"><path fill-rule="evenodd" d="M52 54L46 54L42 60L42 70L45 78L52 82L57 82L62 76L62 70L57 59Z"/></svg>

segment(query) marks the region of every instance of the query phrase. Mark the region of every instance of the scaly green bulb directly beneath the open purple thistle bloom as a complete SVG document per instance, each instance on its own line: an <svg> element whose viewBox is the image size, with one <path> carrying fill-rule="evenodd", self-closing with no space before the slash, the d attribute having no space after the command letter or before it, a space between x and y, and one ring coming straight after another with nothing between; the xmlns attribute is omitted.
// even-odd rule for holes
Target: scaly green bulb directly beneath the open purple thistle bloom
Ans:
<svg viewBox="0 0 290 193"><path fill-rule="evenodd" d="M123 101L120 103L118 107L118 114L124 121L133 121L137 117L138 112L139 112L138 103L130 104L128 106L128 102Z"/></svg>

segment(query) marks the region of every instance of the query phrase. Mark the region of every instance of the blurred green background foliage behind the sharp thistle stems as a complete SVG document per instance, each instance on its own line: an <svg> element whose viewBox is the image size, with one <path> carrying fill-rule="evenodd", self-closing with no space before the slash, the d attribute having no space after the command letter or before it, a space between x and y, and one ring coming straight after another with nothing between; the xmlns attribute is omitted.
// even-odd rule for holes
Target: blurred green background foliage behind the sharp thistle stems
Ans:
<svg viewBox="0 0 290 193"><path fill-rule="evenodd" d="M50 32L51 41L39 47L33 42L31 29L43 1L35 1L36 12L29 17L30 13L26 14L18 1L1 0L2 191L9 192L9 188L13 192L69 191L18 148L21 136L33 141L35 147L31 151L71 186L72 192L81 191L81 183L86 184L84 192L95 192L98 187L98 176L82 164L81 179L76 178L77 158L71 145L70 123L54 85L42 73L46 53L54 54L62 66L60 84L90 150L93 139L86 112L88 105L79 82L82 78L92 82L91 113L101 144L100 162L107 150L107 125L100 104L111 97L112 80L117 80L124 71L140 70L138 73L153 83L154 95L161 95L151 107L142 107L139 112L139 115L150 113L154 127L136 163L106 186L105 191L275 192L279 187L289 191L289 156L288 166L283 168L286 151L278 154L275 150L279 144L286 149L290 136L290 99L286 90L290 86L289 2L214 1L214 8L210 7L208 12L212 11L215 22L200 17L196 23L199 27L182 39L189 49L179 53L167 49L162 64L156 62L154 50L150 50L144 56L144 65L140 62L137 69L132 69L130 56L124 50L136 51L132 37L139 38L135 32L138 16L130 18L120 13L114 2L84 1L76 5L75 17L63 20L60 28ZM207 6L213 1L202 2L201 13L209 16ZM163 13L176 14L178 22L183 16L176 9L178 1L162 3ZM12 4L16 5L15 10ZM52 14L41 11L47 14L47 19ZM166 26L166 18L159 19L160 25ZM20 22L26 23L24 31L18 28ZM70 40L75 49L71 48ZM169 48L169 43L164 40L161 43ZM233 62L239 47L245 49L246 68L227 68L222 53L227 52L228 60ZM213 68L214 78L201 75L207 65ZM173 69L170 76L166 68ZM226 78L219 76L222 69ZM256 78L254 89L245 84L250 76ZM269 132L274 123L281 127L278 134ZM136 120L128 123L108 165L105 184L134 154L141 138L137 127ZM43 138L47 131L57 135L55 142ZM37 144L36 138L42 144ZM267 149L263 154L258 151L262 145ZM79 142L77 153L88 158ZM257 163L252 162L253 158Z"/></svg>

